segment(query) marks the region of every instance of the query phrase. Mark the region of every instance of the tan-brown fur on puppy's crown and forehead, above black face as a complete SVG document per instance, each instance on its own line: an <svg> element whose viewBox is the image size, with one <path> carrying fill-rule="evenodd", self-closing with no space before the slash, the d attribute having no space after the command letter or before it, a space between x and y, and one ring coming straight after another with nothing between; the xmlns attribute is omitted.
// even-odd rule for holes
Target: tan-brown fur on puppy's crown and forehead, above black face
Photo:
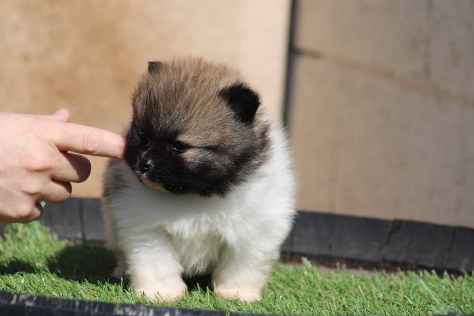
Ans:
<svg viewBox="0 0 474 316"><path fill-rule="evenodd" d="M201 58L160 63L144 74L133 96L133 106L138 115L146 115L146 104L155 100L154 114L175 113L160 124L181 129L180 141L195 147L212 146L223 134L232 135L239 128L226 119L233 113L223 106L225 100L218 94L239 82L243 81L237 71Z"/></svg>

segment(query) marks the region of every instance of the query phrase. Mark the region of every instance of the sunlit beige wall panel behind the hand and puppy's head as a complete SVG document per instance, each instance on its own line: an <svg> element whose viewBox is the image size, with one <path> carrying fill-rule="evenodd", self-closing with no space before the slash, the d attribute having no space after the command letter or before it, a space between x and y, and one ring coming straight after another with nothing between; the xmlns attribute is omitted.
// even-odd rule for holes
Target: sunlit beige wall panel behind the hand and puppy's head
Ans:
<svg viewBox="0 0 474 316"><path fill-rule="evenodd" d="M289 0L0 1L0 110L119 132L146 62L202 55L238 67L280 117ZM99 196L92 157L73 195Z"/></svg>

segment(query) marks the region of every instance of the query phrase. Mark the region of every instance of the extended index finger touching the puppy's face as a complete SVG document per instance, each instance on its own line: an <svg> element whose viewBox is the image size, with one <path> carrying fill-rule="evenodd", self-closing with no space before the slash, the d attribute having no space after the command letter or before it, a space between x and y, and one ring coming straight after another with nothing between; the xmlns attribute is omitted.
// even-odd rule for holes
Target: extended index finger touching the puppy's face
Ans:
<svg viewBox="0 0 474 316"><path fill-rule="evenodd" d="M59 150L124 159L123 152L127 144L124 136L91 126L64 122L57 124L59 130L53 140Z"/></svg>

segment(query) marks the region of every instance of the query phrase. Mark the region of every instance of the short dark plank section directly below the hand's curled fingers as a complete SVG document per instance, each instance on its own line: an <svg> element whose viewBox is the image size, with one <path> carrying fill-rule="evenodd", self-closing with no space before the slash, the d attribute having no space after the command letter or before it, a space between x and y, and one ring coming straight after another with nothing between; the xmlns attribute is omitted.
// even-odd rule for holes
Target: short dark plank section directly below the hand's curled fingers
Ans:
<svg viewBox="0 0 474 316"><path fill-rule="evenodd" d="M70 198L61 204L47 203L41 220L59 238L81 238L79 198Z"/></svg>

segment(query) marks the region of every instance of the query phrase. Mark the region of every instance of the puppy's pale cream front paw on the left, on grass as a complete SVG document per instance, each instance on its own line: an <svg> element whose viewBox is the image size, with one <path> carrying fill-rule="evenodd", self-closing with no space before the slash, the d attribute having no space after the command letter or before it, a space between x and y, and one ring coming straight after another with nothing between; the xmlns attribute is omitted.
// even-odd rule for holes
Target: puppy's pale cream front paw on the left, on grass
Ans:
<svg viewBox="0 0 474 316"><path fill-rule="evenodd" d="M186 284L181 281L179 284L170 286L168 284L146 284L142 286L134 287L137 298L140 298L142 294L145 294L148 299L154 302L164 302L179 300L183 297Z"/></svg>

